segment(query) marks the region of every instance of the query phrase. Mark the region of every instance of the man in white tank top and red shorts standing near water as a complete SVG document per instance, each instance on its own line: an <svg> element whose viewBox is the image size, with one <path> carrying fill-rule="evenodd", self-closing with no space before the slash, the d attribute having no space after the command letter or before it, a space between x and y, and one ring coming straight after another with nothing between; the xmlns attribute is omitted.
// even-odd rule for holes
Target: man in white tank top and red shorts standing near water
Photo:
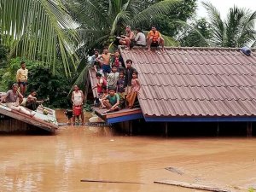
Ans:
<svg viewBox="0 0 256 192"><path fill-rule="evenodd" d="M82 90L79 90L78 85L73 86L72 102L73 102L73 125L75 125L76 116L79 116L79 115L81 115L82 125L84 125L84 112L83 112L84 93Z"/></svg>

